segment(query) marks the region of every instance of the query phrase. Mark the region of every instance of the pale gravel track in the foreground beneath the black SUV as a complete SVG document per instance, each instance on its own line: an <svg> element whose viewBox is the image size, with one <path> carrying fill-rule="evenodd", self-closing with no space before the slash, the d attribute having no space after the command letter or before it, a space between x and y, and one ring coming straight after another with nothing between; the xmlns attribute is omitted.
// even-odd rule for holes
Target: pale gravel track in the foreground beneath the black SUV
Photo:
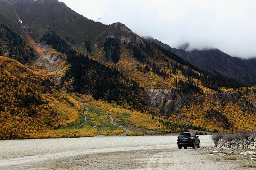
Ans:
<svg viewBox="0 0 256 170"><path fill-rule="evenodd" d="M176 137L176 136L175 136ZM175 138L172 137L172 138ZM113 138L114 139L114 138ZM134 139L134 138L123 138ZM136 138L135 138L136 139ZM146 139L146 138L145 138ZM104 141L105 139L102 138ZM204 142L205 141L205 142ZM1 144L1 143L0 143ZM178 150L176 144L63 150L0 158L1 170L236 170L237 164L215 160L203 149Z"/></svg>

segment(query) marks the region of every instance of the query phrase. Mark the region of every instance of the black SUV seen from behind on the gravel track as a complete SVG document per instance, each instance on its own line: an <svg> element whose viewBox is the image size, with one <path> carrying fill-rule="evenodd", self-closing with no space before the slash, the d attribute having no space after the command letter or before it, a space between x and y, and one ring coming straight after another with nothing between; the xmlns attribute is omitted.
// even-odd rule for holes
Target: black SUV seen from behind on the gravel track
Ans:
<svg viewBox="0 0 256 170"><path fill-rule="evenodd" d="M179 149L181 149L181 147L184 147L184 149L187 147L192 147L193 149L195 149L195 147L200 148L200 139L192 132L180 133L177 137L177 144Z"/></svg>

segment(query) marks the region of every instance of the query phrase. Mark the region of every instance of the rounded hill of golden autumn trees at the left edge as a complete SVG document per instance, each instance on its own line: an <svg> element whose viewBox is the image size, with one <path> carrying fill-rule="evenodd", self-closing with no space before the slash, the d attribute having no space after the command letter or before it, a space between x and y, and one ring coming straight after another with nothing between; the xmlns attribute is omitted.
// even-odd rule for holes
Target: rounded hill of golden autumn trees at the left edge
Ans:
<svg viewBox="0 0 256 170"><path fill-rule="evenodd" d="M46 77L0 57L0 139L55 137L79 114L80 104Z"/></svg>

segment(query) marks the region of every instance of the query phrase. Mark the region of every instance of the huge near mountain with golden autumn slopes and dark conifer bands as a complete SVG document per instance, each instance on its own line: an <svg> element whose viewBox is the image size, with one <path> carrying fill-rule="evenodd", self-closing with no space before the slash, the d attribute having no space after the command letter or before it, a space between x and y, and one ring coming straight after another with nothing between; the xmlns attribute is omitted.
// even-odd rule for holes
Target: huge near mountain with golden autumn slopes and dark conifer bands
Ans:
<svg viewBox="0 0 256 170"><path fill-rule="evenodd" d="M5 127L9 133L4 133L1 139L142 135L189 128L252 131L256 127L254 87L244 87L217 71L196 67L166 49L168 46L163 48L157 42L145 40L122 23L104 25L89 20L58 0L0 1L0 6L6 4L10 11L6 16L11 18L15 14L20 29L2 21L2 27L12 31L3 34L0 50L4 57L15 61L3 67L3 73L14 68L17 73L22 72L8 74L14 82L24 79L33 85L26 91L17 91L17 95L35 91L32 96L40 96L44 95L40 89L49 88L49 96L41 97L49 106L41 113L36 107L43 106L33 102L34 97L29 106L24 106L26 110L17 115L9 114L10 108L2 110L0 128ZM17 45L13 40L19 40ZM20 47L27 47L27 51ZM10 49L15 49L14 55L8 55ZM43 76L49 83L41 85L40 78L33 78L33 74ZM3 88L10 88L9 93L17 86L7 83L4 77L0 82ZM3 105L23 107L25 99L3 96ZM70 108L69 113L65 108ZM66 121L61 116L56 118L58 114L72 118ZM48 119L33 119L32 115ZM10 137L16 129L10 122L16 118L37 135ZM27 119L32 123L26 125ZM34 128L37 125L43 130L38 132Z"/></svg>

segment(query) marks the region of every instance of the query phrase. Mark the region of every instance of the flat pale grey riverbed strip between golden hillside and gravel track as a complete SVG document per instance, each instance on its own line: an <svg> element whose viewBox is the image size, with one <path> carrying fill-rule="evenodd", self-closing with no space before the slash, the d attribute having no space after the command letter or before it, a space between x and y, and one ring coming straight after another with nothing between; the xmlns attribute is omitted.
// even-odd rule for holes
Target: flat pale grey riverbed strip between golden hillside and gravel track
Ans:
<svg viewBox="0 0 256 170"><path fill-rule="evenodd" d="M211 145L211 136L200 136L201 145ZM71 150L177 145L177 136L97 136L89 138L25 139L0 141L0 158L40 155Z"/></svg>

